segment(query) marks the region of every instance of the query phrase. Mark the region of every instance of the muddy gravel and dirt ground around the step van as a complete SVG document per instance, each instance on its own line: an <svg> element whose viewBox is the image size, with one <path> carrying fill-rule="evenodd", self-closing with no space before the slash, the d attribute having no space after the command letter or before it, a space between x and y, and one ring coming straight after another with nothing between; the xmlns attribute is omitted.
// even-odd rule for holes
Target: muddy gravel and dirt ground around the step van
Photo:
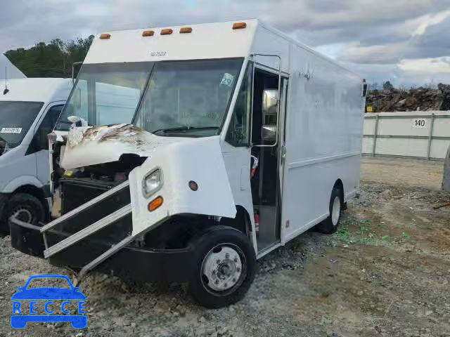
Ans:
<svg viewBox="0 0 450 337"><path fill-rule="evenodd" d="M82 284L88 327L11 329L11 295L34 274L68 274L0 239L0 336L450 336L450 201L442 163L364 159L340 230L310 231L262 261L248 295L220 310L184 286ZM68 274L70 277L72 275Z"/></svg>

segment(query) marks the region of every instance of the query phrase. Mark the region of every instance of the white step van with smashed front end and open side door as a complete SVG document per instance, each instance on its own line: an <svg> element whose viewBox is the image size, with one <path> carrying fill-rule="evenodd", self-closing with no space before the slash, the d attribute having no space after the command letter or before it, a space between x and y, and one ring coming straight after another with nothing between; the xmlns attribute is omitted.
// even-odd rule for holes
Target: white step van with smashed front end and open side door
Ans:
<svg viewBox="0 0 450 337"><path fill-rule="evenodd" d="M187 282L229 305L257 259L334 232L358 192L364 82L258 20L98 34L63 116L96 124L93 74L139 89L132 124L50 135L61 216L11 219L16 249L79 278Z"/></svg>

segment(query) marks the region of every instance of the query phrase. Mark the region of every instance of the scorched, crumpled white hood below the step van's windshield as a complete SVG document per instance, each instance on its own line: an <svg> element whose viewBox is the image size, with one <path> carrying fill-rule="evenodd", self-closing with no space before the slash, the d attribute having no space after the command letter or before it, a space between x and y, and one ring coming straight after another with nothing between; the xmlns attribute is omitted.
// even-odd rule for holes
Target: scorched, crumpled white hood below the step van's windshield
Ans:
<svg viewBox="0 0 450 337"><path fill-rule="evenodd" d="M118 161L122 154L152 157L156 149L184 139L158 137L132 124L71 128L60 165L70 170Z"/></svg>

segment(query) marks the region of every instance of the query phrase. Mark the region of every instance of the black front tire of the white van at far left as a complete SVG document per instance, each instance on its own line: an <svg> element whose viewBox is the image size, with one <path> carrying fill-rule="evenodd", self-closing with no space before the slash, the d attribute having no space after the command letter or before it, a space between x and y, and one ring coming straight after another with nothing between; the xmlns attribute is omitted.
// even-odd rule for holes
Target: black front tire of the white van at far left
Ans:
<svg viewBox="0 0 450 337"><path fill-rule="evenodd" d="M45 207L37 197L27 193L13 194L8 200L1 219L1 232L9 233L8 220L13 214L19 214L19 220L38 225L45 220Z"/></svg>

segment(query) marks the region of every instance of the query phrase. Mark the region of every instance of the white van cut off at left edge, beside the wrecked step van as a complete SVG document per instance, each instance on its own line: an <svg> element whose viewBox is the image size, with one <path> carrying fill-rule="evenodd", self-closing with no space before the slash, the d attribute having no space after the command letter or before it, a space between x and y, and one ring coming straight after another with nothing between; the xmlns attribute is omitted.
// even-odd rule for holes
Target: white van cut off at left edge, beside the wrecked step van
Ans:
<svg viewBox="0 0 450 337"><path fill-rule="evenodd" d="M47 133L60 116L70 79L0 81L0 232L7 219L25 223L49 220Z"/></svg>

